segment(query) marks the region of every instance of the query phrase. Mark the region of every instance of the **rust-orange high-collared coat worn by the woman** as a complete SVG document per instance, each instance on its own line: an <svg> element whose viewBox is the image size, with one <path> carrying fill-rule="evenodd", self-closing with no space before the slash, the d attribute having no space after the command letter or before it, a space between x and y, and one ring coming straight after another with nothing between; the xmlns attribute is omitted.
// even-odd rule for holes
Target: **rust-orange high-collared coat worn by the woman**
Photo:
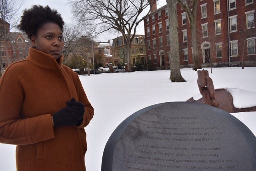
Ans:
<svg viewBox="0 0 256 171"><path fill-rule="evenodd" d="M0 79L0 142L17 145L17 171L86 170L84 127L94 109L78 75L61 63L30 48ZM72 97L85 105L83 122L54 128L51 115Z"/></svg>

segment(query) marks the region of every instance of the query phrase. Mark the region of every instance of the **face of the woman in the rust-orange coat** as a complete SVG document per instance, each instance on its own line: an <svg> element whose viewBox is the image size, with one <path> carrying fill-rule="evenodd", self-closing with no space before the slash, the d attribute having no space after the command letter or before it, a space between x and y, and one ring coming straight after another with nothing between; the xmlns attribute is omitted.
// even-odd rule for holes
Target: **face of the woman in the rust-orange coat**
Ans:
<svg viewBox="0 0 256 171"><path fill-rule="evenodd" d="M31 37L31 42L37 50L53 56L56 60L61 57L64 42L62 31L57 24L48 22L42 25L36 36Z"/></svg>

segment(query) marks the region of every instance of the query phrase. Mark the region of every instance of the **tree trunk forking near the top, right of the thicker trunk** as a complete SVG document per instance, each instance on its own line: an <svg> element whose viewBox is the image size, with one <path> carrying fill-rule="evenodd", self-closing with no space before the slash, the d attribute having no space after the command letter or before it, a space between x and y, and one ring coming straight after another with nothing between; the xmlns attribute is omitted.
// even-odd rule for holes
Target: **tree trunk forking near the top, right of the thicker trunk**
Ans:
<svg viewBox="0 0 256 171"><path fill-rule="evenodd" d="M190 23L192 47L193 47L193 60L194 60L193 70L196 71L197 69L201 68L201 65L199 63L198 41L196 36L197 35L196 12L197 12L198 0L177 0L177 2L185 10L186 15L188 17L188 21Z"/></svg>

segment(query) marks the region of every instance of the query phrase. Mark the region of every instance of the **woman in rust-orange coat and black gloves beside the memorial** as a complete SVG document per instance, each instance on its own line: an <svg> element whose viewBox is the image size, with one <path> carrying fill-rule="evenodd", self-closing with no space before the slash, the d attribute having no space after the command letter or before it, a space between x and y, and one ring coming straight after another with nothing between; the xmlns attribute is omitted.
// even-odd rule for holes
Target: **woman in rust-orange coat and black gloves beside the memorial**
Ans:
<svg viewBox="0 0 256 171"><path fill-rule="evenodd" d="M86 170L84 127L94 109L62 64L63 25L48 6L24 10L18 28L33 47L0 79L0 142L17 145L17 171Z"/></svg>

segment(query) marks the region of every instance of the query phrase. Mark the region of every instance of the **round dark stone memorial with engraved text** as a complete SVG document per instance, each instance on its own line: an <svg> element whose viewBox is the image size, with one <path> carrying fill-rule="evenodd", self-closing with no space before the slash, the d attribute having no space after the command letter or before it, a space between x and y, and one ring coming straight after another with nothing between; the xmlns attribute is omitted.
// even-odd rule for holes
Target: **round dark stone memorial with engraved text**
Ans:
<svg viewBox="0 0 256 171"><path fill-rule="evenodd" d="M112 133L102 171L255 171L256 137L230 113L168 102L125 119Z"/></svg>

